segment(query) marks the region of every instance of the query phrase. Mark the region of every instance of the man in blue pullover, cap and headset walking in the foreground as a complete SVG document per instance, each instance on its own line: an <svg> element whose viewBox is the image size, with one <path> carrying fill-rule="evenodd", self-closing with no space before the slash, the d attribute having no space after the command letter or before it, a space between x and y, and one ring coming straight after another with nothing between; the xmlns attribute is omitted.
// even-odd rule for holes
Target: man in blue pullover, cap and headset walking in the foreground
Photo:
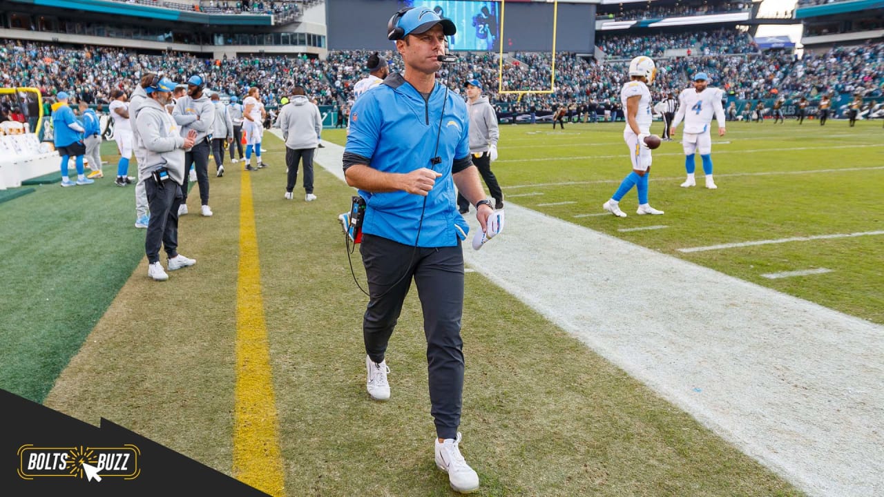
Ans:
<svg viewBox="0 0 884 497"><path fill-rule="evenodd" d="M405 65L362 95L350 113L344 152L347 184L366 201L362 264L370 301L362 321L367 389L390 397L387 343L412 279L423 307L436 463L451 486L472 492L476 471L458 447L463 390L463 251L469 226L457 210L457 190L476 205L485 230L493 210L469 157L469 116L461 96L436 82L449 19L430 9L396 12L388 38Z"/></svg>

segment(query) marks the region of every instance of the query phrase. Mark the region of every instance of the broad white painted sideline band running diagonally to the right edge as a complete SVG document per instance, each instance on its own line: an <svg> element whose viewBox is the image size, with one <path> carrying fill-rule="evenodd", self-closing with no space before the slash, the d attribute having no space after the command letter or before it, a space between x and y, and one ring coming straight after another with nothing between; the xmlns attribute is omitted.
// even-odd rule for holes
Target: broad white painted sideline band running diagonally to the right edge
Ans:
<svg viewBox="0 0 884 497"><path fill-rule="evenodd" d="M316 163L342 178L342 154ZM805 493L884 493L884 326L517 204L507 221L470 268Z"/></svg>

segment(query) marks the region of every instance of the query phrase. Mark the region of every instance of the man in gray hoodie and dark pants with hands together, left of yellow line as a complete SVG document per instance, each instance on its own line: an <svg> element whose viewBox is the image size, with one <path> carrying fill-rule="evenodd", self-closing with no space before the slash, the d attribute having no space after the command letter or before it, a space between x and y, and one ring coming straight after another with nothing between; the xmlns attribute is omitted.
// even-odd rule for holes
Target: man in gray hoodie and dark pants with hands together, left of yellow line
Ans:
<svg viewBox="0 0 884 497"><path fill-rule="evenodd" d="M138 175L144 178L148 195L150 220L144 238L144 252L148 256L148 276L165 281L169 275L160 264L160 244L169 256L169 271L194 265L178 253L178 208L185 184L185 150L194 146L195 132L182 138L179 126L166 111L175 83L163 78L144 88L148 94L139 108L135 126L144 144L144 161L138 163Z"/></svg>

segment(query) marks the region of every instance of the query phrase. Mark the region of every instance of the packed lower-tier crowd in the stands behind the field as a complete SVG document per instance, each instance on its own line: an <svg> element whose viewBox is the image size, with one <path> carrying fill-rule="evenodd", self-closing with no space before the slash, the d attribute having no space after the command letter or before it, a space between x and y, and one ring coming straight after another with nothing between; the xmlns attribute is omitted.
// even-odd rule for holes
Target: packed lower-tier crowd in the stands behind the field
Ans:
<svg viewBox="0 0 884 497"><path fill-rule="evenodd" d="M745 34L715 33L719 41L729 36L748 40ZM369 55L367 51L350 50L331 51L326 60L303 56L212 60L178 52L149 55L109 47L76 48L5 40L0 46L0 85L35 87L50 97L66 91L76 101L106 104L110 103L114 89L131 92L135 81L146 71L162 71L176 81L202 73L209 88L221 94L243 96L249 87L259 85L263 88L263 103L271 108L282 97L290 96L295 85L301 85L311 98L316 98L316 103L344 110L353 101L355 82L366 73ZM393 57L392 52L382 55L388 57L393 71L398 69L398 57ZM461 52L458 56L457 62L443 67L440 80L461 93L464 81L481 81L484 94L498 111L550 110L563 105L601 105L613 109L619 104L618 92L628 64L611 60L598 63L559 53L553 84L549 53L516 52L506 56L501 78L497 54ZM698 57L657 57L657 65L658 76L652 86L655 101L686 88L692 75L700 72L712 75L714 86L739 99L857 93L873 97L882 96L884 91L884 42L837 47L820 54L809 51L801 60L777 51L743 55L713 52ZM554 92L499 94L499 86L513 92L552 88ZM12 105L4 106L7 115Z"/></svg>

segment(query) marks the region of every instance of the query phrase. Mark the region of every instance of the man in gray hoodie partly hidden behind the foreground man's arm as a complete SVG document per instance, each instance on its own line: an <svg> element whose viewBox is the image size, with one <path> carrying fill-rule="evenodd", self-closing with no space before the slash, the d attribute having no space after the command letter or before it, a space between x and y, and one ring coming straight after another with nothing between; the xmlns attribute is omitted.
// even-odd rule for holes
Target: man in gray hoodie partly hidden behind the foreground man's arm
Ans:
<svg viewBox="0 0 884 497"><path fill-rule="evenodd" d="M497 160L497 141L500 136L497 126L497 113L488 97L482 96L479 80L467 81L467 111L469 112L469 153L473 164L488 185L494 197L494 209L503 209L503 192L492 172L492 161ZM457 194L457 208L461 214L469 212L469 201Z"/></svg>

